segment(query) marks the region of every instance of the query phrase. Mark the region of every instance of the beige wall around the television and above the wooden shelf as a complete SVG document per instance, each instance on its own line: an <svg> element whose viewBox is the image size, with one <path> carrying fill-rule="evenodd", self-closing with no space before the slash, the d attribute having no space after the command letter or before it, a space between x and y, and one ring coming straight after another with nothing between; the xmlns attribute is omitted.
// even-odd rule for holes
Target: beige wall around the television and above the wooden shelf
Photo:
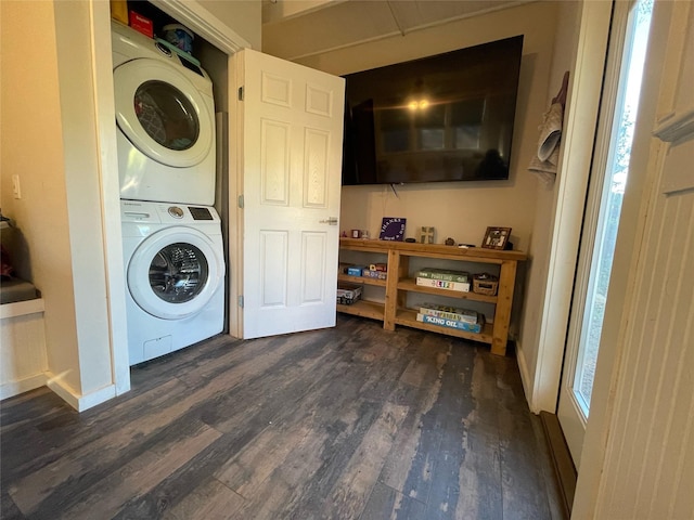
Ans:
<svg viewBox="0 0 694 520"><path fill-rule="evenodd" d="M340 230L365 229L377 237L383 217L406 217L410 236L416 235L419 226L434 225L437 242L450 236L459 243L480 244L488 225L510 226L515 247L528 249L536 219L538 180L527 171L527 165L548 107L556 12L554 2L529 3L297 61L344 75L525 35L511 179L398 186L399 197L389 186L345 186Z"/></svg>

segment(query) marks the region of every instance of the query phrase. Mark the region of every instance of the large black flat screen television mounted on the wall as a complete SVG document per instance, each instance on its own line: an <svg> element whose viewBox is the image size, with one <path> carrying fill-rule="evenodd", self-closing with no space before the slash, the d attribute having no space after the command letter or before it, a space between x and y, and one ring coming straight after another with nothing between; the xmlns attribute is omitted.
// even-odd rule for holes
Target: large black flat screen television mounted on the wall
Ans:
<svg viewBox="0 0 694 520"><path fill-rule="evenodd" d="M343 184L509 179L523 36L345 76Z"/></svg>

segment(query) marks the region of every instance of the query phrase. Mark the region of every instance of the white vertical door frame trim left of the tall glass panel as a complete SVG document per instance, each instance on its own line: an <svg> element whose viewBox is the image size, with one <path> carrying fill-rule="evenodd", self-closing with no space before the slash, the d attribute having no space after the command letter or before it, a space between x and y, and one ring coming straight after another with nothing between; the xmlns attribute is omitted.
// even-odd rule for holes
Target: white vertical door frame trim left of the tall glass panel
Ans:
<svg viewBox="0 0 694 520"><path fill-rule="evenodd" d="M538 338L538 361L529 403L534 413L555 413L558 402L611 14L612 2L582 3L564 126L565 144L556 181L556 208Z"/></svg>

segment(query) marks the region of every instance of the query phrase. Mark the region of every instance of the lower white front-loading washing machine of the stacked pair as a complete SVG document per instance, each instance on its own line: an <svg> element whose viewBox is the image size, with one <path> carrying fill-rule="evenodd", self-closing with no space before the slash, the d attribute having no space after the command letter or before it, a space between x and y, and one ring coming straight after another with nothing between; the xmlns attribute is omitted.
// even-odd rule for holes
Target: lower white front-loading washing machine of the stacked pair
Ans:
<svg viewBox="0 0 694 520"><path fill-rule="evenodd" d="M120 200L130 365L223 329L224 256L214 208Z"/></svg>

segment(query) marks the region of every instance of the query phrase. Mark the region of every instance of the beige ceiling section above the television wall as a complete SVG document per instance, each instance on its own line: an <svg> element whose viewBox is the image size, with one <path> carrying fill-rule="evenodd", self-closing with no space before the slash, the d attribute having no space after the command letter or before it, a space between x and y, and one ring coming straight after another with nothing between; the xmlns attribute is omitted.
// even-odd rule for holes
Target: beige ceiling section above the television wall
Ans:
<svg viewBox="0 0 694 520"><path fill-rule="evenodd" d="M528 1L264 0L262 51L299 60Z"/></svg>

